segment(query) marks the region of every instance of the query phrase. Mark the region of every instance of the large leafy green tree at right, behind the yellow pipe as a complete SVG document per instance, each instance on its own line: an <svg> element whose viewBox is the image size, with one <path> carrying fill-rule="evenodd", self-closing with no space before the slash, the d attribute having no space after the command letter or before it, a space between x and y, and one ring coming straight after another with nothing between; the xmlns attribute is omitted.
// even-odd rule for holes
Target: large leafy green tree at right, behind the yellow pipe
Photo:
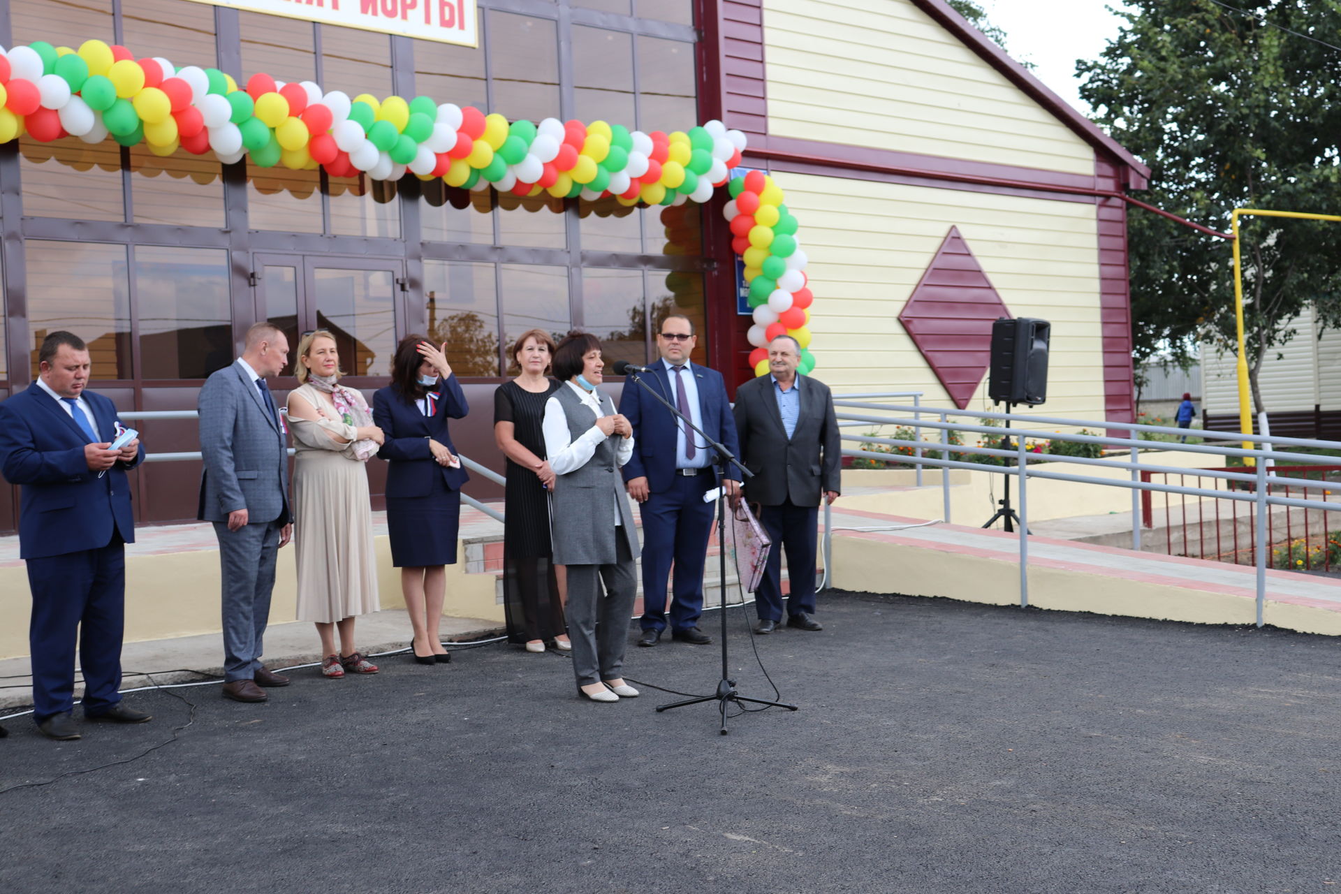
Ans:
<svg viewBox="0 0 1341 894"><path fill-rule="evenodd" d="M1097 122L1151 166L1141 198L1228 229L1235 208L1341 213L1341 0L1129 0L1096 62ZM1290 31L1298 32L1297 36ZM1240 218L1246 351L1262 363L1313 308L1341 326L1341 224ZM1236 353L1232 245L1155 214L1128 224L1136 361Z"/></svg>

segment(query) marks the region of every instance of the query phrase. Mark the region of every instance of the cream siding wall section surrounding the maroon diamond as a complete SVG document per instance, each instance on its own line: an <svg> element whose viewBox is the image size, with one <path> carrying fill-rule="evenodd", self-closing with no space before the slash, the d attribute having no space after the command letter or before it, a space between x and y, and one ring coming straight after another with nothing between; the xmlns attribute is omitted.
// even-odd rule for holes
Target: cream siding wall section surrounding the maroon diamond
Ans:
<svg viewBox="0 0 1341 894"><path fill-rule="evenodd" d="M1094 206L837 177L774 174L801 218L815 304L815 377L839 391L913 390L952 406L898 322L923 271L957 227L1015 316L1053 323L1047 403L1104 418ZM991 409L987 378L970 409Z"/></svg>

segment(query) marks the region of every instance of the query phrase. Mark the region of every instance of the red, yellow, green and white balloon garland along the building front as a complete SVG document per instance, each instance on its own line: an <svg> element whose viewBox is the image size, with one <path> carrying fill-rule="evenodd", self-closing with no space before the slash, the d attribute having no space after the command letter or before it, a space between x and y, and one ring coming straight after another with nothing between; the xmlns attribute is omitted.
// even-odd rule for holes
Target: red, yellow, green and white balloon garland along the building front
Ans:
<svg viewBox="0 0 1341 894"><path fill-rule="evenodd" d="M331 177L400 180L409 172L516 196L614 196L625 206L701 204L727 186L731 245L744 261L754 311L750 365L756 375L767 371L764 346L778 335L797 339L802 373L815 365L814 295L797 218L771 177L735 170L746 135L720 121L672 134L603 121L508 122L429 97L351 99L267 74L239 87L217 68L137 60L125 47L87 40L78 50L46 42L0 48L0 143L24 133L39 142L71 135L99 143L110 135L122 146L143 141L156 155L213 151L228 165L247 157L260 168L320 166Z"/></svg>

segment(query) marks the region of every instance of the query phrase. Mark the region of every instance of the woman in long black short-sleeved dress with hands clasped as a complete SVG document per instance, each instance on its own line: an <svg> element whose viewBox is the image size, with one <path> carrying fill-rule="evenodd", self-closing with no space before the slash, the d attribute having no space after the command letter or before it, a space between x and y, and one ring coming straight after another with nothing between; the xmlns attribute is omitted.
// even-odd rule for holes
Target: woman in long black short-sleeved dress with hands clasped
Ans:
<svg viewBox="0 0 1341 894"><path fill-rule="evenodd" d="M493 393L493 440L507 456L507 504L503 523L503 602L508 642L544 651L554 641L573 646L563 625L561 576L550 556L550 501L546 487L554 472L544 460L540 422L544 403L559 387L546 378L554 342L542 330L523 332L512 346L522 374Z"/></svg>

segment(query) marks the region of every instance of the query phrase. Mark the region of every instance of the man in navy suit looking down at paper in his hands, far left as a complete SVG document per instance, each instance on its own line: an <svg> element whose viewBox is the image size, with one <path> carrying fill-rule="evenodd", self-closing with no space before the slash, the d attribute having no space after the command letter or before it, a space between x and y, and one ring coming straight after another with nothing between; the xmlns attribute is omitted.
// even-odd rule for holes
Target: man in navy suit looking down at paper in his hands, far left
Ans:
<svg viewBox="0 0 1341 894"><path fill-rule="evenodd" d="M32 591L32 717L51 739L79 739L74 710L75 643L90 720L142 724L121 701L125 544L135 539L126 470L143 461L139 440L107 445L123 430L117 407L86 391L89 347L52 332L38 351L40 378L0 403L0 472L23 488L19 554Z"/></svg>

